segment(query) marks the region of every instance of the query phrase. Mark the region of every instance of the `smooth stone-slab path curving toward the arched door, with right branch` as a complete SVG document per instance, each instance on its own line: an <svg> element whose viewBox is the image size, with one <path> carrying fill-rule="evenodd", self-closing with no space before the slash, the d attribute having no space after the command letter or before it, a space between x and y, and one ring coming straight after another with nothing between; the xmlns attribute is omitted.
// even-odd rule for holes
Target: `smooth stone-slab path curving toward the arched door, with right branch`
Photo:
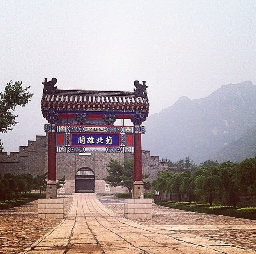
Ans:
<svg viewBox="0 0 256 254"><path fill-rule="evenodd" d="M115 204L114 206L120 205L122 204ZM168 211L170 213L169 209ZM188 217L192 214L194 213L187 212ZM204 217L204 215L200 216ZM184 218L184 214L182 217ZM150 219L147 221L149 222ZM154 220L150 223L153 222ZM32 244L30 248L21 253L255 254L254 250L234 244L210 240L194 234L183 234L184 230L195 232L201 229L216 230L218 228L216 226L210 227L211 224L222 228L215 220L212 222L215 223L205 224L207 226L203 224L203 221L200 224L186 224L184 227L180 225L176 225L176 227L174 225L162 226L159 223L145 225L134 220L125 219L110 211L98 201L95 194L75 193L67 217L56 228L50 230ZM255 230L256 223L251 224L251 221L249 221L241 225L238 220L234 226L230 226L231 229L225 229L238 230L241 226Z"/></svg>

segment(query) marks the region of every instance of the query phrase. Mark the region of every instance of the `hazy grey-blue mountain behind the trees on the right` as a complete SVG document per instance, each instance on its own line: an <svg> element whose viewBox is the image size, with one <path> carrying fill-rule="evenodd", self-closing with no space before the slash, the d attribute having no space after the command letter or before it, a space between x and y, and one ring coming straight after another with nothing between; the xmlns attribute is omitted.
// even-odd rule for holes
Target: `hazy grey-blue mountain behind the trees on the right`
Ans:
<svg viewBox="0 0 256 254"><path fill-rule="evenodd" d="M251 157L255 149L246 148L246 152L244 146L255 140L251 136L256 126L255 98L256 86L251 81L223 85L205 98L182 96L148 117L143 149L172 161L189 156L196 163Z"/></svg>

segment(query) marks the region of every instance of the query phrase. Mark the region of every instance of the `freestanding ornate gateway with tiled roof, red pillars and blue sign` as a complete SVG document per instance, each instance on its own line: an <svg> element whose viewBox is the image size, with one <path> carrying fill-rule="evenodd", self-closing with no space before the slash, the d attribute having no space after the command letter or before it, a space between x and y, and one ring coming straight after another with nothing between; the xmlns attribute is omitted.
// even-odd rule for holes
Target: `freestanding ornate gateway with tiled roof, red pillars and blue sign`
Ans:
<svg viewBox="0 0 256 254"><path fill-rule="evenodd" d="M56 83L56 78L42 82L41 109L49 122L44 126L48 132L51 183L47 185L46 198L57 197L56 152L133 153L133 197L139 198L143 191L141 134L145 133L141 124L149 111L146 81L142 85L134 81L136 89L125 92L57 89ZM130 119L133 126L114 126L116 119ZM78 186L80 180L77 179Z"/></svg>

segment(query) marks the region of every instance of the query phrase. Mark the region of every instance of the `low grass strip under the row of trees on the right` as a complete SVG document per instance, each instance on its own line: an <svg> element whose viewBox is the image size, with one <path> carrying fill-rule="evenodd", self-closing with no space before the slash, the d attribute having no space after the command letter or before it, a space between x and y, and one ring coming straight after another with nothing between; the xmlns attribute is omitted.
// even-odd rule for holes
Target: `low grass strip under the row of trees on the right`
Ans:
<svg viewBox="0 0 256 254"><path fill-rule="evenodd" d="M157 205L162 205L164 207L171 207L175 209L192 211L196 213L209 213L215 215L226 215L230 217L243 218L256 220L256 207L242 207L242 208L233 208L229 206L212 206L209 204L195 203L191 205L188 202L160 202L155 201Z"/></svg>

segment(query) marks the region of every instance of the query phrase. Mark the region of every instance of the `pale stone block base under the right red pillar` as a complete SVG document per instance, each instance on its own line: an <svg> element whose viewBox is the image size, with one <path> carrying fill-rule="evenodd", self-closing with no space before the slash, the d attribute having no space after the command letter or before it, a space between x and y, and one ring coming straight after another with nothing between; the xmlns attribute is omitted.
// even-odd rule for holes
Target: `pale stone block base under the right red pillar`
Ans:
<svg viewBox="0 0 256 254"><path fill-rule="evenodd" d="M125 199L124 217L127 219L152 219L152 199Z"/></svg>

